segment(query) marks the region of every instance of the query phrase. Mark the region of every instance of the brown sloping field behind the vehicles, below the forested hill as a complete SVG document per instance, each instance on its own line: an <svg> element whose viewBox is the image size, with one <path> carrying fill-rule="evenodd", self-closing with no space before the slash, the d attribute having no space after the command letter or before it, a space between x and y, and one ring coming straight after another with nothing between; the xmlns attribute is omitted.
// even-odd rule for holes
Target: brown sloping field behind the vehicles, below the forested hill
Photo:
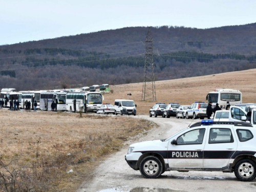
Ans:
<svg viewBox="0 0 256 192"><path fill-rule="evenodd" d="M210 69L209 69L210 70ZM236 89L243 94L243 102L256 102L256 69L156 81L157 102L178 102L190 105L195 101L205 101L208 92L218 88ZM105 94L104 102L114 104L115 99L132 99L137 104L138 114L148 114L155 102L141 101L142 83L110 86L113 94ZM127 93L131 93L129 96Z"/></svg>

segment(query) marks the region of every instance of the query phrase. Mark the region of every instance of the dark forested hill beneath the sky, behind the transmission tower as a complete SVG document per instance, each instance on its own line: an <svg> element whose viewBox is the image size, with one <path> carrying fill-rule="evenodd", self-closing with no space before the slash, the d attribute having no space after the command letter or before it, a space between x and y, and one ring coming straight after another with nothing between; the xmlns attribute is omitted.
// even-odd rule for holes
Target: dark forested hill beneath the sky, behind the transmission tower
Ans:
<svg viewBox="0 0 256 192"><path fill-rule="evenodd" d="M0 46L0 86L57 89L143 81L147 27ZM156 80L256 68L256 23L151 27Z"/></svg>

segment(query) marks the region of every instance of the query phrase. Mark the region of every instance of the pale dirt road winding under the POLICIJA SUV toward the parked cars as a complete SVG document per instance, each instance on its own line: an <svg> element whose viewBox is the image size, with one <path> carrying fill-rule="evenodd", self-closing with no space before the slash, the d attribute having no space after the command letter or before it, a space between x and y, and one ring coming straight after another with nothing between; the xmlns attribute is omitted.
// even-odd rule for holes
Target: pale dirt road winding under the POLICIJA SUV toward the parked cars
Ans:
<svg viewBox="0 0 256 192"><path fill-rule="evenodd" d="M146 115L137 118L150 119L159 124L151 131L130 138L122 150L113 154L96 168L91 179L84 181L78 192L170 192L170 191L256 191L256 180L240 182L232 173L222 172L165 172L157 179L145 179L139 170L132 169L124 160L130 144L146 140L164 139L182 130L191 119L150 118ZM195 120L197 122L199 120ZM193 122L193 123L194 123Z"/></svg>

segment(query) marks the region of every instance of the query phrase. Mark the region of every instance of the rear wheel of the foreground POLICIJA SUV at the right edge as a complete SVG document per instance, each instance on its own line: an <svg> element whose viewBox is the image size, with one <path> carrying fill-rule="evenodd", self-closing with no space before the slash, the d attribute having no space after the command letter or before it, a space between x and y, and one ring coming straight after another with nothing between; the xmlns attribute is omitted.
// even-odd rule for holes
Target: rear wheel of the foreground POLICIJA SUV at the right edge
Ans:
<svg viewBox="0 0 256 192"><path fill-rule="evenodd" d="M252 181L256 175L256 164L250 159L242 159L234 166L234 175L240 181Z"/></svg>

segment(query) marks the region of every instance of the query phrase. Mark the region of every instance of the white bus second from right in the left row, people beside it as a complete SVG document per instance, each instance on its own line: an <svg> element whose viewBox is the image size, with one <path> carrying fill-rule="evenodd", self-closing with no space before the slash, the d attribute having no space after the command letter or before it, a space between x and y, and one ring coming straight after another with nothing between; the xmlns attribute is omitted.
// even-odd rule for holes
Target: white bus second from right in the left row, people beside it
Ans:
<svg viewBox="0 0 256 192"><path fill-rule="evenodd" d="M55 111L66 111L66 92L41 92L40 110L51 111L52 102L56 103Z"/></svg>

